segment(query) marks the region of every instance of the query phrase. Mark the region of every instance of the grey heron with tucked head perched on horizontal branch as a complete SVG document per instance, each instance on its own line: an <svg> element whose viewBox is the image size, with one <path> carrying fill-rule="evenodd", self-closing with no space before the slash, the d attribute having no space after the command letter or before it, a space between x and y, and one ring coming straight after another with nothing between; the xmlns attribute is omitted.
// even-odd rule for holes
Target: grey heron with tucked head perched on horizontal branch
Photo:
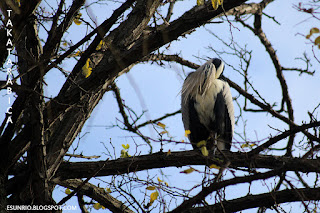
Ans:
<svg viewBox="0 0 320 213"><path fill-rule="evenodd" d="M194 149L206 141L208 150L230 150L234 131L234 109L229 84L222 80L224 62L208 60L190 73L181 90L181 112ZM198 146L199 147L199 146Z"/></svg>

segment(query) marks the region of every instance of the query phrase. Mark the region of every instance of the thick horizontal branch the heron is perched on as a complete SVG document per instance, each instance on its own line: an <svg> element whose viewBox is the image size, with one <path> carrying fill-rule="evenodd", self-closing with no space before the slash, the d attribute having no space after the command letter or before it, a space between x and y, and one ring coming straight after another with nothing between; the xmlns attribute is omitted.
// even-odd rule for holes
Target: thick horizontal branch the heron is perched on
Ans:
<svg viewBox="0 0 320 213"><path fill-rule="evenodd" d="M284 168L286 171L300 171L303 173L320 172L320 161L316 159L301 159L289 157L275 157L269 155L257 155L249 158L247 153L224 152L231 161L231 168ZM223 156L216 158L205 158L198 151L184 151L167 153L155 153L151 155L121 158L110 161L96 162L74 162L62 163L57 171L56 177L61 179L85 178L92 174L97 168L106 166L98 172L97 176L119 175L130 172L138 172L147 169L181 167L187 165L220 165Z"/></svg>

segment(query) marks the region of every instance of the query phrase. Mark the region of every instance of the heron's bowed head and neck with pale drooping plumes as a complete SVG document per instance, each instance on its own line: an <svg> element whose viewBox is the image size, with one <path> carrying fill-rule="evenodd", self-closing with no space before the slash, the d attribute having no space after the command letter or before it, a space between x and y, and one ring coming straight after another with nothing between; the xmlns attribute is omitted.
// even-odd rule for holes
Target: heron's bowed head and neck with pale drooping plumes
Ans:
<svg viewBox="0 0 320 213"><path fill-rule="evenodd" d="M218 58L208 60L195 72L186 78L181 93L187 97L196 94L203 95L214 80L218 79L224 70L224 63Z"/></svg>

